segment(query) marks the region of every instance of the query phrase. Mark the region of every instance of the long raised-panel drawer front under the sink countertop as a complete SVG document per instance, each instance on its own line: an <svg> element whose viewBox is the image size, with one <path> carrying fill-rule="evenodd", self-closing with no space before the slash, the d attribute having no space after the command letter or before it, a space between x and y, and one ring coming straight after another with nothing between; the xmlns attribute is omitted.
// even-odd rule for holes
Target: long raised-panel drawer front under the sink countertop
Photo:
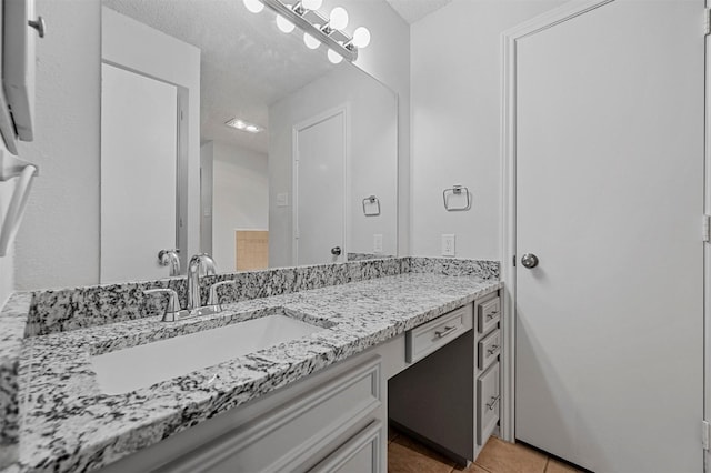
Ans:
<svg viewBox="0 0 711 473"><path fill-rule="evenodd" d="M333 439L372 419L380 404L378 356L187 453L160 471L300 471Z"/></svg>

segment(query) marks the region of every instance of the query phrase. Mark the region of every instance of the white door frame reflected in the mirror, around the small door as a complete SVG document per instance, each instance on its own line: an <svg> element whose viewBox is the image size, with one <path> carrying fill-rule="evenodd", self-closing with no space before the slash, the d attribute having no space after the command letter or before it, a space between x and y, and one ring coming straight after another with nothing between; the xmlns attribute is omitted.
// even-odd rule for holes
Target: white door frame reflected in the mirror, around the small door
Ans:
<svg viewBox="0 0 711 473"><path fill-rule="evenodd" d="M348 177L351 163L351 135L349 132L350 103L346 102L300 121L291 129L291 261L294 266L299 264L299 132L339 114L343 115L343 175L341 181L343 189L343 248L341 256L343 256L342 261L348 260L348 249L350 248L348 228L351 217L351 184Z"/></svg>

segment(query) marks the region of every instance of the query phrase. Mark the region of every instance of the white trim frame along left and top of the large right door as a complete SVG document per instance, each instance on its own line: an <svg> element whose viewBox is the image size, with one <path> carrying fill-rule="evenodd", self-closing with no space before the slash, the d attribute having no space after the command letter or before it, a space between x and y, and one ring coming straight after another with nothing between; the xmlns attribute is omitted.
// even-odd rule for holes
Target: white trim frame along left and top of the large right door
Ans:
<svg viewBox="0 0 711 473"><path fill-rule="evenodd" d="M509 442L515 440L517 42L613 1L570 1L501 33L501 281L504 283L501 436Z"/></svg>

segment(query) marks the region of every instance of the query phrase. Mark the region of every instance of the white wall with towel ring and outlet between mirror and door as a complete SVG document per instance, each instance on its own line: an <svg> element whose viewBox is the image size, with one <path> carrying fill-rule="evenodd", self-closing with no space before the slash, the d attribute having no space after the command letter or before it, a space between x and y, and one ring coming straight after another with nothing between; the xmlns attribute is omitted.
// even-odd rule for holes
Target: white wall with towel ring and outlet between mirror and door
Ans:
<svg viewBox="0 0 711 473"><path fill-rule="evenodd" d="M454 0L412 24L412 246L501 259L500 33L562 1ZM468 212L447 212L442 190L469 187Z"/></svg>

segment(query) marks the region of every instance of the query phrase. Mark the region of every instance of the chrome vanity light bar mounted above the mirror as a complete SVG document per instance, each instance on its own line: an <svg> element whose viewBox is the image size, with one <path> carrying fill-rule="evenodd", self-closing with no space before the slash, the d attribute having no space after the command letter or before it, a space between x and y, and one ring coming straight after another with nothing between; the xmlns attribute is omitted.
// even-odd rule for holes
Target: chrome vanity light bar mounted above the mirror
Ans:
<svg viewBox="0 0 711 473"><path fill-rule="evenodd" d="M280 0L261 0L261 2L299 27L304 33L321 41L343 59L351 62L358 59L358 48L352 43L352 38L343 31L331 29L328 26L329 20L319 12L303 9L300 2L293 10Z"/></svg>

